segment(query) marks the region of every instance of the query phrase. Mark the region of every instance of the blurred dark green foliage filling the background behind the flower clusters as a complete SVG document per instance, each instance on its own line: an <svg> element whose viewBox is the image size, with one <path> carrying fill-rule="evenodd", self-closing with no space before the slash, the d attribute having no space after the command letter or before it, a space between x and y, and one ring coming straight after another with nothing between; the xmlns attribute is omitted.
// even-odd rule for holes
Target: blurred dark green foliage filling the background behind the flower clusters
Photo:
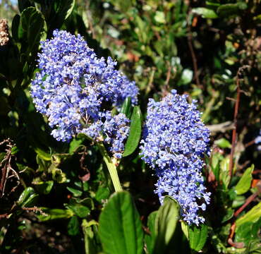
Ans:
<svg viewBox="0 0 261 254"><path fill-rule="evenodd" d="M8 24L0 26L1 253L124 253L106 241L109 218L119 222L110 241L136 246L129 253L261 253L260 0L1 0L0 18ZM108 202L113 186L90 141L51 138L29 90L40 40L55 28L80 33L98 56L116 59L140 88L142 112L149 97L173 88L198 99L212 133L205 226L173 219L174 201L159 208L157 179L138 149L119 165L136 210L128 193ZM135 216L119 214L117 204ZM117 235L123 222L136 228L126 238Z"/></svg>

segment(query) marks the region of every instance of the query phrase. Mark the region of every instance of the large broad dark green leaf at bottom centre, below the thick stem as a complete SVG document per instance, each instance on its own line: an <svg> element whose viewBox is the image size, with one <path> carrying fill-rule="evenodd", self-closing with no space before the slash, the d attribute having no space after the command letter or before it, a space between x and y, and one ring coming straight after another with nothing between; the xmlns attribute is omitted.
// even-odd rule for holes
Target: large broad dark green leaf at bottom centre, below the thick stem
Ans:
<svg viewBox="0 0 261 254"><path fill-rule="evenodd" d="M99 237L105 253L142 253L142 224L128 192L111 195L99 217Z"/></svg>

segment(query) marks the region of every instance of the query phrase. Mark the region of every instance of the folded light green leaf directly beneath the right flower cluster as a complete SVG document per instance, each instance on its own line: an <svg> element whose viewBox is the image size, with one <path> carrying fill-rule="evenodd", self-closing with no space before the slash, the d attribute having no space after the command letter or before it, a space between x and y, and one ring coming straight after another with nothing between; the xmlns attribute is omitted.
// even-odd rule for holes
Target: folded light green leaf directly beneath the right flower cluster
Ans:
<svg viewBox="0 0 261 254"><path fill-rule="evenodd" d="M159 207L159 212L155 219L157 238L153 253L164 253L176 229L178 210L178 203L169 196L166 196L163 205Z"/></svg>

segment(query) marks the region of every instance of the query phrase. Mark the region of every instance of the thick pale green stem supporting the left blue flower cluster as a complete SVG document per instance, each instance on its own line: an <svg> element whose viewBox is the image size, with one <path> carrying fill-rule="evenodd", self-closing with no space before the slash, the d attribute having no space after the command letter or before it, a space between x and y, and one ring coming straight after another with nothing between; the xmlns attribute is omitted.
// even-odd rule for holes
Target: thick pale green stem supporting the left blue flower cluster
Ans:
<svg viewBox="0 0 261 254"><path fill-rule="evenodd" d="M115 191L122 191L121 183L119 180L119 176L115 164L112 162L111 157L109 157L103 143L98 142L97 145L99 147L99 151L102 153L104 162L106 163L107 168L109 169L109 174L111 176L112 183L114 184Z"/></svg>

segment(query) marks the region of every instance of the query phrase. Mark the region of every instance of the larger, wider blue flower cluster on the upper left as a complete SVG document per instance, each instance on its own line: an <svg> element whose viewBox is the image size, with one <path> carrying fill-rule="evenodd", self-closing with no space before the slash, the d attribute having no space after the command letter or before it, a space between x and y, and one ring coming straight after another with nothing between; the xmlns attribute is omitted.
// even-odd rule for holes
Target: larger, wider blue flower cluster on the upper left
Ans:
<svg viewBox="0 0 261 254"><path fill-rule="evenodd" d="M123 114L113 117L111 109L119 108L126 97L136 104L138 87L116 70L116 61L98 58L80 35L62 30L54 30L53 35L41 42L40 71L32 80L37 111L48 117L56 140L68 141L78 133L95 140L105 136L111 152L120 157L128 119Z"/></svg>

